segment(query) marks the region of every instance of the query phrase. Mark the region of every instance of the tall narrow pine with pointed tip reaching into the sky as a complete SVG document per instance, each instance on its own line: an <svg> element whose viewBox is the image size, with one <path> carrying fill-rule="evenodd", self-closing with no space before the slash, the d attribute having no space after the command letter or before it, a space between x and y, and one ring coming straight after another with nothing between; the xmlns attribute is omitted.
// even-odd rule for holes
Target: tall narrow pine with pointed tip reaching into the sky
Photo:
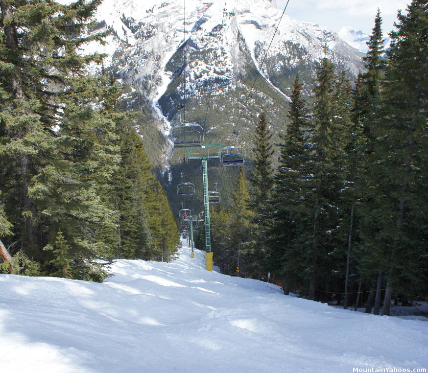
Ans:
<svg viewBox="0 0 428 373"><path fill-rule="evenodd" d="M371 204L377 199L377 195L374 193L373 188L367 186L371 185L370 179L373 178L370 174L378 172L372 165L378 162L376 153L374 152L377 147L376 123L379 118L382 97L381 82L384 79L385 68L385 61L382 57L384 51L381 23L382 19L380 18L378 9L375 17L375 26L367 43L367 56L364 58L366 71L358 76L357 87L354 93L353 131L357 135L355 136L357 147L354 161L352 162L351 159L352 163L348 163L349 165L353 164L355 174L357 174L357 184L354 184L353 191L359 196L357 198L359 198L360 202L355 218L359 221L358 231L363 237L376 236L378 231L376 227L377 217L372 214L371 208ZM364 136L358 141L360 138L358 136L360 126L363 127ZM360 143L359 146L358 142ZM356 209L356 205L354 204L353 207L352 212ZM369 241L370 239L363 239L362 244L357 248L357 252L355 253L358 256L358 271L361 276L367 279L381 279L382 272L379 256L376 255L376 249L368 243ZM375 313L379 313L380 285L381 283L378 281Z"/></svg>

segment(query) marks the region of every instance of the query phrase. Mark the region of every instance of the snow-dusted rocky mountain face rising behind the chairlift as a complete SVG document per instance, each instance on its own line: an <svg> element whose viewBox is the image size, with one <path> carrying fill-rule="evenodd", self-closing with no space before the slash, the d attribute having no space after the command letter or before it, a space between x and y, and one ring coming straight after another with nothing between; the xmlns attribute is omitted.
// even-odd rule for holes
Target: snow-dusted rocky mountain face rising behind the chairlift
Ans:
<svg viewBox="0 0 428 373"><path fill-rule="evenodd" d="M144 120L154 118L158 132L168 135L177 105L185 105L186 121L204 127L206 142L229 144L225 139L238 130L251 158L258 113L266 113L274 140L285 131L296 73L309 91L320 58L350 77L363 69L363 54L336 33L286 14L272 40L282 13L274 0L104 0L97 28L113 34L106 46L88 49L109 55L109 69L131 87L129 105L144 107ZM153 131L146 126L144 136ZM164 167L168 155L175 175L183 150L165 144L163 152L149 152L158 152L152 159Z"/></svg>

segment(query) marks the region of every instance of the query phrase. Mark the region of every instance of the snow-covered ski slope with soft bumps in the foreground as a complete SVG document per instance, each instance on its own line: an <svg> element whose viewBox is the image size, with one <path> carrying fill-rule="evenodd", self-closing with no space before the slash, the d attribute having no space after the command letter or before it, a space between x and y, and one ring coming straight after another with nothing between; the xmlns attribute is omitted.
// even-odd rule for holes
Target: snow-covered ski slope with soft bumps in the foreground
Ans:
<svg viewBox="0 0 428 373"><path fill-rule="evenodd" d="M427 368L428 323L334 309L257 280L118 260L104 283L0 275L1 372Z"/></svg>

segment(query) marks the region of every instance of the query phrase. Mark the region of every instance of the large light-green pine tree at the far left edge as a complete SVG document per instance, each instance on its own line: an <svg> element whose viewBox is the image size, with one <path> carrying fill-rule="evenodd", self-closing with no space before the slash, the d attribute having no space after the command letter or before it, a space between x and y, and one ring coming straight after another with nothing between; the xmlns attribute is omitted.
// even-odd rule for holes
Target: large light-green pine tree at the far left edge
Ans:
<svg viewBox="0 0 428 373"><path fill-rule="evenodd" d="M0 1L2 155L10 179L18 181L12 182L14 198L8 193L6 203L20 207L12 219L15 230L23 247L35 256L41 244L38 210L28 188L45 163L44 153L52 149L52 129L62 116L59 102L64 92L56 88L68 71L82 64L75 48L99 39L99 35L80 37L98 4L98 0L70 6L53 1Z"/></svg>

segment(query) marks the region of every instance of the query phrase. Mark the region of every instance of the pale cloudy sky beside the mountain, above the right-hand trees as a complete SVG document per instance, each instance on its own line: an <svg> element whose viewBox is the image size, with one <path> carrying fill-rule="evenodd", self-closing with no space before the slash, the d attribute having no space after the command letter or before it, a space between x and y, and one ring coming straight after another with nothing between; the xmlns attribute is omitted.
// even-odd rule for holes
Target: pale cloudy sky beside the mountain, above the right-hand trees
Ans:
<svg viewBox="0 0 428 373"><path fill-rule="evenodd" d="M318 23L338 32L344 26L368 34L374 26L377 8L383 19L382 31L389 32L397 20L397 11L405 10L411 0L289 0L285 13L297 21ZM287 0L276 0L284 9Z"/></svg>

